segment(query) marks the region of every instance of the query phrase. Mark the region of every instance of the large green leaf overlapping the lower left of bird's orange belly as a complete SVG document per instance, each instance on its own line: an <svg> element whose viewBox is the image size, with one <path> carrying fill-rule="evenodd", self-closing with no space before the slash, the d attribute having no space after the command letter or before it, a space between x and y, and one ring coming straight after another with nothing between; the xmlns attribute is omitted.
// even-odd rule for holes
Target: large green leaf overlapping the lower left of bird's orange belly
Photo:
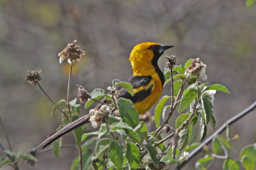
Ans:
<svg viewBox="0 0 256 170"><path fill-rule="evenodd" d="M118 101L120 117L132 128L139 124L139 114L134 104L129 99L120 98Z"/></svg>

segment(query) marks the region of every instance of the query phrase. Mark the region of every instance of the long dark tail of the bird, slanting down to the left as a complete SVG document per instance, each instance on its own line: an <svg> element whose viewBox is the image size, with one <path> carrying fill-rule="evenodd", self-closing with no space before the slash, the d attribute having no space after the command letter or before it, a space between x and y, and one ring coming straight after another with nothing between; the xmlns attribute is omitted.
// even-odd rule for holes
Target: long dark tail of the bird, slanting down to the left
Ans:
<svg viewBox="0 0 256 170"><path fill-rule="evenodd" d="M37 148L45 148L46 146L50 145L52 142L61 138L61 136L63 136L64 134L67 134L68 132L76 129L81 125L87 124L88 122L90 122L89 119L90 119L90 115L85 115L84 117L81 117L76 121L71 122L70 124L60 129L60 131L57 131L51 134L47 139L45 139L45 141L43 141L40 145L38 145Z"/></svg>

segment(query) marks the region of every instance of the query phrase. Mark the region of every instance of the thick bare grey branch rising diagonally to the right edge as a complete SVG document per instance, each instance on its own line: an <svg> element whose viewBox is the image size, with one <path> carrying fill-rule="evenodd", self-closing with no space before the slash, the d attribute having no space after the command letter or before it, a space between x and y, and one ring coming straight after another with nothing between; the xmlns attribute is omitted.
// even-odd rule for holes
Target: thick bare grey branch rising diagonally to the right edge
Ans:
<svg viewBox="0 0 256 170"><path fill-rule="evenodd" d="M198 153L200 150L202 150L202 148L209 144L212 139L217 135L220 134L221 132L223 132L227 125L232 125L234 124L237 120L239 120L240 118L244 117L245 115L247 115L248 113L250 113L251 111L253 111L256 108L256 101L251 104L251 106L249 106L248 108L246 108L245 110L241 111L239 114L237 114L236 116L230 118L227 120L227 122L225 122L216 132L214 132L214 134L212 134L209 138L207 138L203 143L201 143L201 145L199 145L195 150L193 150L193 152L191 152L188 156L188 158L186 160L184 160L184 162L182 162L181 164L179 164L177 167L175 167L176 170L181 169L182 167L184 167L189 160L191 160L193 157L195 157L196 153Z"/></svg>

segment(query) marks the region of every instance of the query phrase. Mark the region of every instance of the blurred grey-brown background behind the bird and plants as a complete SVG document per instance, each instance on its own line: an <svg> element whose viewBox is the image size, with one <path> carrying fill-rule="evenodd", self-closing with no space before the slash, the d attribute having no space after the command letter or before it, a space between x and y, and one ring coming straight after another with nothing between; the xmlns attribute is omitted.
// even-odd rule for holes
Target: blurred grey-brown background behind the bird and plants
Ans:
<svg viewBox="0 0 256 170"><path fill-rule="evenodd" d="M86 55L75 63L71 98L77 96L76 84L91 92L106 90L115 78L126 80L132 74L128 59L134 45L143 41L175 45L164 54L177 55L177 64L200 57L207 65L207 81L230 90L215 96L218 128L256 99L255 30L256 4L248 8L241 0L0 0L0 115L13 150L31 150L61 124L60 111L50 117L52 103L26 82L25 75L28 69L42 69L44 90L54 101L66 99L68 64L60 65L58 53L74 39ZM165 62L164 57L159 59L162 70ZM170 95L170 85L163 95ZM86 112L81 110L81 115ZM154 115L154 110L150 112ZM243 146L256 141L255 113L231 126L231 136L239 134L232 141L234 159L239 159ZM154 129L154 123L148 127ZM2 127L0 141L8 148ZM74 137L66 136L63 143L74 143ZM76 148L63 148L58 159L47 152L38 155L34 167L21 162L20 169L70 169L77 155ZM193 169L195 162L184 169ZM212 164L211 169L221 165L221 161Z"/></svg>

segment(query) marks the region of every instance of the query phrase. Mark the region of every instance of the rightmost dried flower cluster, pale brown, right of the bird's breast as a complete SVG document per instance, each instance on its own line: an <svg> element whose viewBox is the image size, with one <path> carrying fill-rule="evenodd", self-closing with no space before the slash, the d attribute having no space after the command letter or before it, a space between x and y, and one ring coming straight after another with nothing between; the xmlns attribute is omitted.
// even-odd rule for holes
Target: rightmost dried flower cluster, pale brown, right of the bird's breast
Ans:
<svg viewBox="0 0 256 170"><path fill-rule="evenodd" d="M205 74L206 65L200 61L199 58L191 61L190 66L186 69L185 75L187 77L191 76L200 76L202 80L207 79L207 75Z"/></svg>

